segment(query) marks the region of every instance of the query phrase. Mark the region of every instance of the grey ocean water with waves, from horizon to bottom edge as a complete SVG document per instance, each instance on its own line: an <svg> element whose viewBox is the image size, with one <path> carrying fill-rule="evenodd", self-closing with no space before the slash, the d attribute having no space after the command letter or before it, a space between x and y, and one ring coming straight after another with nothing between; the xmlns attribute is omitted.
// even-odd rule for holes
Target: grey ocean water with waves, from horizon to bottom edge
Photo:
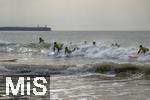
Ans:
<svg viewBox="0 0 150 100"><path fill-rule="evenodd" d="M139 45L150 48L150 31L1 31L0 59L17 61L1 61L0 75L50 75L50 100L150 100L150 54L132 57ZM66 46L77 49L66 56Z"/></svg>

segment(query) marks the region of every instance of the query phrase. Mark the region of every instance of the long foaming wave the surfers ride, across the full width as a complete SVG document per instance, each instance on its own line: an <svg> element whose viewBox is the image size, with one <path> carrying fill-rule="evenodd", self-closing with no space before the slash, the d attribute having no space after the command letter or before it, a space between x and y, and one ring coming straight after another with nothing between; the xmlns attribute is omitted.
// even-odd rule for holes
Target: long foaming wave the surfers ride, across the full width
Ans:
<svg viewBox="0 0 150 100"><path fill-rule="evenodd" d="M64 47L68 44L64 44ZM39 55L47 57L66 57L64 54L64 48L59 54L53 52L53 46L50 43L30 43L30 44L18 44L18 43L1 43L0 53L13 53L13 54L26 54L26 55ZM100 59L116 59L116 60L136 60L136 61L150 61L150 54L142 54L136 59L130 59L129 55L138 51L137 47L111 47L106 44L83 45L72 44L69 48L77 48L69 57L88 57L88 58L100 58ZM68 56L67 56L68 57Z"/></svg>

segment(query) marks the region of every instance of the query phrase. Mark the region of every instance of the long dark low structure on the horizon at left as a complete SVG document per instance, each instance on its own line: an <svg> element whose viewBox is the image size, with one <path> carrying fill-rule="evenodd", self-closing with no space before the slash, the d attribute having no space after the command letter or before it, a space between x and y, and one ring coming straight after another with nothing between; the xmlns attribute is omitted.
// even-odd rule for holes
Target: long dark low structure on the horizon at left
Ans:
<svg viewBox="0 0 150 100"><path fill-rule="evenodd" d="M0 31L51 31L50 27L0 27Z"/></svg>

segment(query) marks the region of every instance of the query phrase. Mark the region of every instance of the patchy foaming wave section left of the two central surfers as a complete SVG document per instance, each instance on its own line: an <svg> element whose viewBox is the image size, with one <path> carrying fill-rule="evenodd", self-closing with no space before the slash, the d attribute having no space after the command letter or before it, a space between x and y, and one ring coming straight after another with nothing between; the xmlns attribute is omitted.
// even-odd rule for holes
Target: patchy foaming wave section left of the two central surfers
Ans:
<svg viewBox="0 0 150 100"><path fill-rule="evenodd" d="M49 43L0 43L0 53L14 53L14 54L40 54L42 49L49 49Z"/></svg>

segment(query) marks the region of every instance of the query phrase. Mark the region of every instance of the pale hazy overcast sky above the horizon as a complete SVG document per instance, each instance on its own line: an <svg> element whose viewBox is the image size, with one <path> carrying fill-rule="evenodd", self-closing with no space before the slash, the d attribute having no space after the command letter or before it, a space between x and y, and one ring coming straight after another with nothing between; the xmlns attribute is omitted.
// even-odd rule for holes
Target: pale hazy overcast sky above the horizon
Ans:
<svg viewBox="0 0 150 100"><path fill-rule="evenodd" d="M150 0L0 0L0 27L150 30Z"/></svg>

